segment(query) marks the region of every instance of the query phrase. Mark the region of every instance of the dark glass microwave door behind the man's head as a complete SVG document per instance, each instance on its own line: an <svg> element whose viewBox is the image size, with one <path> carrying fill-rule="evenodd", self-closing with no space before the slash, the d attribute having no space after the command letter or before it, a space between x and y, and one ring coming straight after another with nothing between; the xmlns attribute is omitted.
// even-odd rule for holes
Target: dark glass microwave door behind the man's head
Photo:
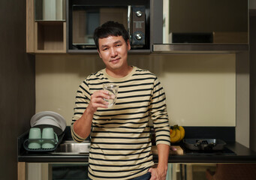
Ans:
<svg viewBox="0 0 256 180"><path fill-rule="evenodd" d="M73 46L77 49L96 49L93 33L95 28L109 20L122 23L128 28L128 7L83 6L73 11Z"/></svg>

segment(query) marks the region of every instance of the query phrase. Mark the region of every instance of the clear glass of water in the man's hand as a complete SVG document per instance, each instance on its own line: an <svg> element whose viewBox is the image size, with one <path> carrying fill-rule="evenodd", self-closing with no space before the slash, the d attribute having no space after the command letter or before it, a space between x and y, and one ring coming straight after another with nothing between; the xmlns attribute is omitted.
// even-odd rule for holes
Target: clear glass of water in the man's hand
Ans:
<svg viewBox="0 0 256 180"><path fill-rule="evenodd" d="M103 90L108 91L110 95L110 99L104 99L104 101L108 102L108 108L113 107L116 104L117 92L119 86L111 83L103 84Z"/></svg>

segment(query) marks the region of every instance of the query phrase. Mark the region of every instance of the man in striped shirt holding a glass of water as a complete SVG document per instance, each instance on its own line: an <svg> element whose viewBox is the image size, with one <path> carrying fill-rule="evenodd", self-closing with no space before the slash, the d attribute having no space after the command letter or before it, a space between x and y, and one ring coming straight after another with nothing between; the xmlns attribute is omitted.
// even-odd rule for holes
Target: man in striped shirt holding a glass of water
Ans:
<svg viewBox="0 0 256 180"><path fill-rule="evenodd" d="M170 127L161 84L149 71L128 65L131 46L121 24L104 23L95 29L94 40L106 68L81 83L71 125L77 142L91 136L89 178L165 179ZM104 101L112 98L102 90L104 83L119 86L116 105L111 108ZM158 148L156 168L150 152L150 118Z"/></svg>

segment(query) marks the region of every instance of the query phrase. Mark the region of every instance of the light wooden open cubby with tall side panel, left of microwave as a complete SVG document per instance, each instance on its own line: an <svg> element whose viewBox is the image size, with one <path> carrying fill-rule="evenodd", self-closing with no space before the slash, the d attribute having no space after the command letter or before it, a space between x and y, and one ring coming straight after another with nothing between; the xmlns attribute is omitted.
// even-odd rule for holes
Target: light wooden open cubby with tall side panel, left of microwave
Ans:
<svg viewBox="0 0 256 180"><path fill-rule="evenodd" d="M66 22L64 20L35 21L34 0L26 0L26 52L66 52Z"/></svg>

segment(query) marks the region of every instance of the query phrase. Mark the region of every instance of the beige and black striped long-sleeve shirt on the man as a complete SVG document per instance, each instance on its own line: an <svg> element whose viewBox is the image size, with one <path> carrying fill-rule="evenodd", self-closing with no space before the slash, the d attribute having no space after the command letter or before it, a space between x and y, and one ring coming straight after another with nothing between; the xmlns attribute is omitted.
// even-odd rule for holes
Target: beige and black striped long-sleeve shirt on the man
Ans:
<svg viewBox="0 0 256 180"><path fill-rule="evenodd" d="M145 174L154 165L149 138L149 120L155 128L156 144L170 145L170 127L165 94L157 77L134 67L128 76L113 78L106 70L90 75L77 90L71 133L77 142L73 123L83 115L93 92L103 83L119 86L116 105L98 108L92 119L89 177L130 179Z"/></svg>

